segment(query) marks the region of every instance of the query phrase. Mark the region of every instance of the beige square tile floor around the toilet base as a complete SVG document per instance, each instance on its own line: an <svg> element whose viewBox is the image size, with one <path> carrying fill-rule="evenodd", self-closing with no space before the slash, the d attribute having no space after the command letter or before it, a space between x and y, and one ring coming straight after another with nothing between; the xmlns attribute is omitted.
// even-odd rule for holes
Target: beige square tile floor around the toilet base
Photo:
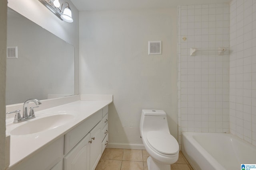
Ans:
<svg viewBox="0 0 256 170"><path fill-rule="evenodd" d="M107 148L103 152L96 170L148 170L146 150ZM171 170L193 170L180 151L179 159Z"/></svg>

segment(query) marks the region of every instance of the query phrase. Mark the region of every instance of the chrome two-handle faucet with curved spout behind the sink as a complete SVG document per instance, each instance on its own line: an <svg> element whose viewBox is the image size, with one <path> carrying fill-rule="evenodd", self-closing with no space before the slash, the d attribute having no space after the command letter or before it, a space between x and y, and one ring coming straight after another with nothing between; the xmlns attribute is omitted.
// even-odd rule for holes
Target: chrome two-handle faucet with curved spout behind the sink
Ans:
<svg viewBox="0 0 256 170"><path fill-rule="evenodd" d="M28 103L29 102L34 102L36 105L42 104L37 99L28 99L23 104L23 114L22 114L22 117L20 115L20 110L11 111L11 112L6 113L6 114L16 113L16 115L14 117L13 123L19 123L19 122L26 121L26 120L29 120L29 119L33 119L33 118L36 117L35 114L34 114L34 108L39 107L39 106L30 107L30 112L29 112L29 115L28 115L28 108L27 107L28 107Z"/></svg>

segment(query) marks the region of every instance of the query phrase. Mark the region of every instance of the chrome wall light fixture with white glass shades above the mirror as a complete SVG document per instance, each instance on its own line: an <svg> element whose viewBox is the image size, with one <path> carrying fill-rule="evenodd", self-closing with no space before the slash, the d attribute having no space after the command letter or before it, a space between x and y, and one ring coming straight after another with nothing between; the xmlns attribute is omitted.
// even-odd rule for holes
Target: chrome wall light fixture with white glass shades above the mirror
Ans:
<svg viewBox="0 0 256 170"><path fill-rule="evenodd" d="M63 2L60 7L60 2L59 0L54 0L52 2L51 0L39 0L46 8L48 8L52 13L54 13L60 20L64 20L66 22L73 22L72 19L72 12L69 7L68 2ZM67 6L63 10L63 5L67 4Z"/></svg>

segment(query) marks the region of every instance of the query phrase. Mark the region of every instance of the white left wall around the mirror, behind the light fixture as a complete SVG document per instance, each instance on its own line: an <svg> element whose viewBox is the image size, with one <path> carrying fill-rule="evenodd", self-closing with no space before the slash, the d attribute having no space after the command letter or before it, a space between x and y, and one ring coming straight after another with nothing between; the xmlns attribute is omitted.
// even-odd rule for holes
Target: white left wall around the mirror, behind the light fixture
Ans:
<svg viewBox="0 0 256 170"><path fill-rule="evenodd" d="M79 94L79 17L78 10L72 2L70 0L66 2L70 4L72 10L74 19L72 23L61 21L38 0L8 0L8 7L75 47L75 94Z"/></svg>

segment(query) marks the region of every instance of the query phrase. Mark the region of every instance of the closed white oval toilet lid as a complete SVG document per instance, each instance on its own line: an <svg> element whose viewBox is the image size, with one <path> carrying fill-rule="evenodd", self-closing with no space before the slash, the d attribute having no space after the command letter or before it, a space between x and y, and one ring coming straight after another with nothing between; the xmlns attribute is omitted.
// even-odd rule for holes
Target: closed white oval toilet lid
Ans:
<svg viewBox="0 0 256 170"><path fill-rule="evenodd" d="M170 133L163 131L149 131L147 141L151 147L162 154L176 154L179 152L179 145Z"/></svg>

